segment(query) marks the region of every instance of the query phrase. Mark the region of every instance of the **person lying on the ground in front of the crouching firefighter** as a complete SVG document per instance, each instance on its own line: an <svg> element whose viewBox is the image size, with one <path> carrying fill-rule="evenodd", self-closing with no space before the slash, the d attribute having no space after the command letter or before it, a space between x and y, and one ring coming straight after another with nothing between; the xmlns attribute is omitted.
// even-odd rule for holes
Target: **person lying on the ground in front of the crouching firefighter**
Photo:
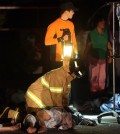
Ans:
<svg viewBox="0 0 120 134"><path fill-rule="evenodd" d="M11 113L11 115L10 115ZM49 109L39 109L36 113L23 115L9 109L8 116L11 122L8 125L1 126L0 132L25 130L27 133L43 133L48 129L56 128L58 130L73 129L76 125L96 126L94 120L84 118L76 109L72 107L52 107ZM2 117L1 117L2 118Z"/></svg>

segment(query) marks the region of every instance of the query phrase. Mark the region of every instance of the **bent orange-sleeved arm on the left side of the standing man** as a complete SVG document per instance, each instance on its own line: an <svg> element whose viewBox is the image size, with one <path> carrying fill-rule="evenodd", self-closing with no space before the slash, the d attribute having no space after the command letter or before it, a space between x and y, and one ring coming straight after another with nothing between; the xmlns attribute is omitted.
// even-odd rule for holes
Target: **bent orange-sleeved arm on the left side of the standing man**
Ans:
<svg viewBox="0 0 120 134"><path fill-rule="evenodd" d="M47 32L45 35L45 45L54 45L57 44L57 37L55 38L55 25L51 24L47 28Z"/></svg>

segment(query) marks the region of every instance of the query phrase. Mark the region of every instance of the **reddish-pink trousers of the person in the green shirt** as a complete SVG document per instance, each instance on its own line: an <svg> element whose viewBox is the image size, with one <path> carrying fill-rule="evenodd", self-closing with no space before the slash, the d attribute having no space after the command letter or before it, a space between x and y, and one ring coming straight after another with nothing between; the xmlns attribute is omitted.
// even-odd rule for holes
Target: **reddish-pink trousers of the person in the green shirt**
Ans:
<svg viewBox="0 0 120 134"><path fill-rule="evenodd" d="M90 57L89 61L91 92L104 90L106 82L106 60Z"/></svg>

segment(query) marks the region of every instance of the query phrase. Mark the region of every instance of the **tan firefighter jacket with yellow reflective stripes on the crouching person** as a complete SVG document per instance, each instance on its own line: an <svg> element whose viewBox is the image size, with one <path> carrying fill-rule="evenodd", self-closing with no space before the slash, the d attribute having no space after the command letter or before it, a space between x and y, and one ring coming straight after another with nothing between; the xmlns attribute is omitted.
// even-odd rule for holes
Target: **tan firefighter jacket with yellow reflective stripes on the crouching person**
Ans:
<svg viewBox="0 0 120 134"><path fill-rule="evenodd" d="M73 79L64 66L47 72L29 86L25 95L27 108L67 106Z"/></svg>

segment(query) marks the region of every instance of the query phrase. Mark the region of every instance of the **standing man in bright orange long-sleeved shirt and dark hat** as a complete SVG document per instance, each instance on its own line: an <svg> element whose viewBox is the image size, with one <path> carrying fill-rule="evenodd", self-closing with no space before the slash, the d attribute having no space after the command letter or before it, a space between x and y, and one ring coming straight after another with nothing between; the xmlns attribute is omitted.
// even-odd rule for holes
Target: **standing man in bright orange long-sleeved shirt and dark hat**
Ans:
<svg viewBox="0 0 120 134"><path fill-rule="evenodd" d="M77 43L74 31L74 24L69 19L72 19L75 11L78 9L74 7L72 2L63 3L60 6L60 17L52 22L46 32L45 45L56 45L55 64L57 67L62 65L64 43L71 43L73 45L74 53L77 55ZM59 65L57 65L59 63Z"/></svg>

